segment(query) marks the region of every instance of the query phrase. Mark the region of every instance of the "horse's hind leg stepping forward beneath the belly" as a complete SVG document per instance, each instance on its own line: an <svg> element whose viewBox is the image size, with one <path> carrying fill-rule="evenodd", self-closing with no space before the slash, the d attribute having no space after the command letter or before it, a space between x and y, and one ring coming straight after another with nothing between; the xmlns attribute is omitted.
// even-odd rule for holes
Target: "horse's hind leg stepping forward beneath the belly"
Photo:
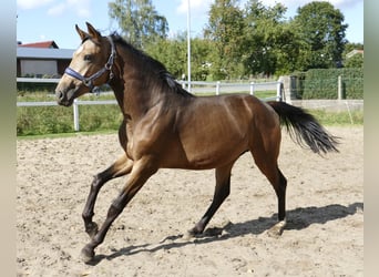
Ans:
<svg viewBox="0 0 379 277"><path fill-rule="evenodd" d="M213 215L216 213L218 207L223 204L223 202L226 199L226 197L231 193L231 171L233 167L233 163L216 168L216 188L214 193L214 197L212 201L211 206L202 217L202 219L188 230L190 236L195 236L198 234L202 234L206 227L206 225L209 223Z"/></svg>

